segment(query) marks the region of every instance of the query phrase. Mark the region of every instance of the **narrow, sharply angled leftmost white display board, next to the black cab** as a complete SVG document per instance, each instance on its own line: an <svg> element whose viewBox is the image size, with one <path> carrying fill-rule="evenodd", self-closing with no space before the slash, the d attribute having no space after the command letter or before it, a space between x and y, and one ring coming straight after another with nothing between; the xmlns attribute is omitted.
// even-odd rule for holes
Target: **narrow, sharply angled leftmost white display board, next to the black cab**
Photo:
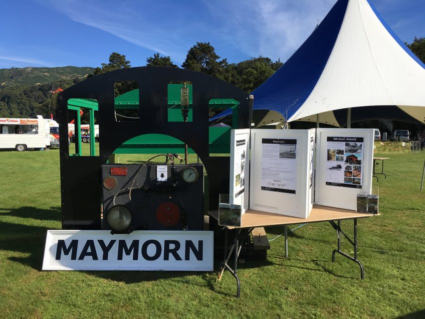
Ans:
<svg viewBox="0 0 425 319"><path fill-rule="evenodd" d="M249 206L250 129L233 129L230 137L229 203L241 206L241 214Z"/></svg>

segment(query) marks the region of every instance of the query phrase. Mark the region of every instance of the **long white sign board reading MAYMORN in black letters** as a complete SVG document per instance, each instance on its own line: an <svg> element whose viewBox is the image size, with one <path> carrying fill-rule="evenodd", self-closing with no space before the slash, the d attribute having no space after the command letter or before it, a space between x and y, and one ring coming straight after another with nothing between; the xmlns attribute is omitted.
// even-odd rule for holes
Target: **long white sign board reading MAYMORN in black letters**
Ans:
<svg viewBox="0 0 425 319"><path fill-rule="evenodd" d="M43 270L212 271L212 231L48 230Z"/></svg>

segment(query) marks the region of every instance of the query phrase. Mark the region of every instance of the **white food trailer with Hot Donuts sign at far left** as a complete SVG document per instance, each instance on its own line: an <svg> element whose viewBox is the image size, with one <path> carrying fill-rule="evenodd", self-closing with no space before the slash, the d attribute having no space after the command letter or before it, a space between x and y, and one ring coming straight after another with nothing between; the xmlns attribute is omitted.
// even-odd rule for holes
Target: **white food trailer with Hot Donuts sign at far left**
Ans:
<svg viewBox="0 0 425 319"><path fill-rule="evenodd" d="M0 117L0 149L46 148L50 144L43 116L37 118Z"/></svg>

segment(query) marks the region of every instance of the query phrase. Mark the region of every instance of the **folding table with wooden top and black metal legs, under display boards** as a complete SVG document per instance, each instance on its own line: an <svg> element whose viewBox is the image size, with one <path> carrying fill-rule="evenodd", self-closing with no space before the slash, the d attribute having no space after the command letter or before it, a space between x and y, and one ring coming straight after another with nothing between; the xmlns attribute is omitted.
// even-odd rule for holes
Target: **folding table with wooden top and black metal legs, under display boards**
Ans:
<svg viewBox="0 0 425 319"><path fill-rule="evenodd" d="M213 211L209 214L218 219L218 212ZM242 226L233 227L225 226L225 248L224 248L224 260L221 265L219 272L219 279L221 279L225 270L228 270L232 276L236 279L237 283L237 297L241 296L241 282L238 276L238 258L241 252L241 243L243 243L246 238L251 234L254 228L256 227L266 227L266 226L284 226L285 228L285 256L288 256L288 231L287 225L299 224L301 223L319 223L319 222L329 222L332 227L337 231L338 241L337 249L332 251L332 262L335 261L335 254L339 253L340 255L348 258L349 260L354 261L360 266L360 277L364 279L364 269L361 262L357 259L357 219L367 218L374 216L373 214L366 213L356 213L350 210L324 207L314 205L309 218L300 220L296 217L283 216L272 214L263 211L248 210L242 217ZM352 219L354 222L354 238L350 239L341 229L341 220ZM335 221L337 221L335 223ZM235 233L235 239L229 243L229 233ZM341 234L353 245L354 247L354 257L348 255L347 253L341 251ZM233 265L230 265L231 258L233 256Z"/></svg>

